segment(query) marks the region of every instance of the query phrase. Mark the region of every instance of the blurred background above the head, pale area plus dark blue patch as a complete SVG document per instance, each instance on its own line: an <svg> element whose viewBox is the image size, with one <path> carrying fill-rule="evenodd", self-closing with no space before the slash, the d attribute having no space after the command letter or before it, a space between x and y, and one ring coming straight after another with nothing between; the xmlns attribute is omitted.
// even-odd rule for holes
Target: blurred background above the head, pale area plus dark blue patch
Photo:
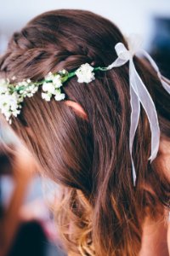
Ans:
<svg viewBox="0 0 170 256"><path fill-rule="evenodd" d="M1 0L0 54L6 49L13 32L20 30L31 18L51 9L88 9L111 19L125 35L139 33L144 48L150 50L160 63L163 74L167 75L164 69L167 69L170 52L169 0ZM161 55L167 59L165 65Z"/></svg>

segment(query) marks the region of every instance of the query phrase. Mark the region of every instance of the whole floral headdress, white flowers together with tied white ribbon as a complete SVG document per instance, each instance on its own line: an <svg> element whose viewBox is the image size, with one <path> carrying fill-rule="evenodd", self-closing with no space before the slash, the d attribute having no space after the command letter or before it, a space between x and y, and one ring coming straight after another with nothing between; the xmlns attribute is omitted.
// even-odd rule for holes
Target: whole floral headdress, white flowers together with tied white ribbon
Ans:
<svg viewBox="0 0 170 256"><path fill-rule="evenodd" d="M108 67L92 67L88 63L82 64L81 67L72 72L61 70L58 73L48 73L48 75L42 79L42 81L33 82L30 79L26 79L20 83L9 83L8 79L0 79L0 110L9 121L12 122L12 117L17 117L20 114L20 108L26 96L33 96L39 87L42 87L42 99L50 101L52 96L56 101L65 99L65 94L61 91L61 87L68 79L77 76L78 83L89 84L95 79L96 71L106 72L114 67L121 67L127 61L129 62L129 90L130 90L130 103L131 103L131 125L130 125L130 137L129 137L129 150L131 154L132 167L133 167L133 184L136 182L136 172L133 165L132 148L133 139L137 126L139 123L140 103L143 106L145 113L150 122L151 131L151 154L149 160L152 161L156 158L156 154L159 148L160 142L160 127L158 123L155 104L150 96L149 91L145 87L142 79L139 77L134 63L133 55L140 53L150 61L152 67L155 68L158 78L161 81L162 86L170 94L170 86L163 79L161 73L156 66L156 62L150 57L150 55L140 47L140 41L138 37L131 37L128 39L128 49L124 44L118 43L115 46L117 58L116 61L111 63ZM15 80L15 78L14 78Z"/></svg>

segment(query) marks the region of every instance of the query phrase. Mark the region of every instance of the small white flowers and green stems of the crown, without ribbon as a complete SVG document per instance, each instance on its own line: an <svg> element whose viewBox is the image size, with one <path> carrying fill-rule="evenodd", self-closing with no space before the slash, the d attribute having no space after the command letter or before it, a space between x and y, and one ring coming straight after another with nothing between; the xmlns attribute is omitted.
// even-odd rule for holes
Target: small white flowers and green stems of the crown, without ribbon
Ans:
<svg viewBox="0 0 170 256"><path fill-rule="evenodd" d="M77 76L78 83L90 83L94 77L94 72L100 70L105 71L105 67L92 67L88 63L82 64L74 72L67 72L65 69L58 73L48 73L41 81L33 82L31 79L25 79L19 83L9 83L8 79L0 79L0 110L8 120L12 123L12 117L17 117L22 108L21 103L27 97L33 96L40 85L42 85L42 99L49 102L54 96L55 101L65 99L65 93L62 93L63 84L74 76ZM12 79L15 80L15 77Z"/></svg>

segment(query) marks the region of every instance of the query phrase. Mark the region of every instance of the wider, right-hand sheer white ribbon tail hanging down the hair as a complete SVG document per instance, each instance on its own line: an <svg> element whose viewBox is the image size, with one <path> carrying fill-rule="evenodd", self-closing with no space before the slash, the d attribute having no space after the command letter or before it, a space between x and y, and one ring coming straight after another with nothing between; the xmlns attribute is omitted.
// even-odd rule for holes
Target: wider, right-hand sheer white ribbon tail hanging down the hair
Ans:
<svg viewBox="0 0 170 256"><path fill-rule="evenodd" d="M141 102L144 111L148 117L150 122L150 131L151 131L151 154L149 160L152 161L156 158L156 154L159 149L159 142L160 142L160 128L156 113L155 104L150 96L149 91L146 89L142 79L139 77L139 73L137 73L133 60L130 61L131 66L131 84L133 86L133 90L135 91L136 95L139 97L139 102Z"/></svg>

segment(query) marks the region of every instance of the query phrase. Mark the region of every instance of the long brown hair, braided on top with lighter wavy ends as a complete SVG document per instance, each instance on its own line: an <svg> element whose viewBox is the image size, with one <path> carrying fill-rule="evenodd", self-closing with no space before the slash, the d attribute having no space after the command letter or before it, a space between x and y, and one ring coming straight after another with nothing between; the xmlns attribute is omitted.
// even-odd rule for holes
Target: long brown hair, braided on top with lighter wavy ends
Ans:
<svg viewBox="0 0 170 256"><path fill-rule="evenodd" d="M51 11L14 33L0 60L0 75L34 81L86 62L106 67L116 59L118 42L127 46L119 29L99 15ZM161 136L170 137L169 95L145 61L134 57L134 62L156 104ZM98 72L90 84L72 78L63 90L88 120L64 101L45 102L38 91L26 98L13 128L46 175L61 185L56 218L65 247L72 255L138 255L144 217L155 218L160 206L168 205L170 184L159 166L148 161L150 125L142 108L133 145L138 177L133 187L128 64Z"/></svg>

